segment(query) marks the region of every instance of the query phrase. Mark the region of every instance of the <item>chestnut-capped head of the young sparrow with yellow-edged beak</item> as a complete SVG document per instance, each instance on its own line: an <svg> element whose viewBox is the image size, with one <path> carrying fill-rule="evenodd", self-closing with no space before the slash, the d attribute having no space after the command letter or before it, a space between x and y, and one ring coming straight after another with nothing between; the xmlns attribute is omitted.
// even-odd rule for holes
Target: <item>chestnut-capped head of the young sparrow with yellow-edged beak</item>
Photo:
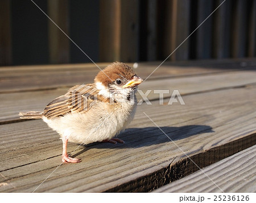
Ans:
<svg viewBox="0 0 256 203"><path fill-rule="evenodd" d="M94 78L99 94L106 98L115 97L117 100L129 99L142 81L129 65L119 62L108 65Z"/></svg>

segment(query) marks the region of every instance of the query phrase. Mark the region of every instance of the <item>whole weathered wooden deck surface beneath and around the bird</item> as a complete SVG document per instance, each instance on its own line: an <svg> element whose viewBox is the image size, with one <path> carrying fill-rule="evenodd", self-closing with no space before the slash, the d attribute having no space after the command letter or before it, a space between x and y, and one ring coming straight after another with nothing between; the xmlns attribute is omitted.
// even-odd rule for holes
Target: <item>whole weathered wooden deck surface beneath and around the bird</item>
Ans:
<svg viewBox="0 0 256 203"><path fill-rule="evenodd" d="M135 71L146 78L159 64ZM152 90L152 105L138 106L119 135L125 144L69 143L82 162L60 165L59 135L18 112L42 110L97 72L93 64L0 68L0 192L33 192L47 177L35 192L256 192L256 59L164 63L139 86ZM154 89L170 90L163 105ZM167 105L174 89L185 105Z"/></svg>

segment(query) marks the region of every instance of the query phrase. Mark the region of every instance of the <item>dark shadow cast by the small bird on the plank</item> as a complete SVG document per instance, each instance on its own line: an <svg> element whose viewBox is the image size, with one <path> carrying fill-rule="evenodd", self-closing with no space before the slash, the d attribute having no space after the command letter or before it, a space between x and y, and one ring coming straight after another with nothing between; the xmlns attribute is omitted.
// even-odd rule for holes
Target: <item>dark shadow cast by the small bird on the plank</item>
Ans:
<svg viewBox="0 0 256 203"><path fill-rule="evenodd" d="M189 136L198 135L202 133L214 132L212 127L207 125L188 125L181 127L142 127L130 128L118 135L118 138L125 141L125 143L92 143L82 145L84 149L73 155L76 157L83 154L90 148L139 148L144 146L151 146L170 142L171 140L180 140L188 138Z"/></svg>

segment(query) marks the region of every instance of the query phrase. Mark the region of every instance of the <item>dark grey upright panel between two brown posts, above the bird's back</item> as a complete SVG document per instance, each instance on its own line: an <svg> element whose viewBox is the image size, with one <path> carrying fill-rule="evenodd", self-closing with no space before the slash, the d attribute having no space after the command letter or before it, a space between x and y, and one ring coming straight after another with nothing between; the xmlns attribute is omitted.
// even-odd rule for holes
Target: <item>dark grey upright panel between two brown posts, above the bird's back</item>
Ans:
<svg viewBox="0 0 256 203"><path fill-rule="evenodd" d="M69 37L92 59L100 57L100 1L69 2ZM75 44L70 43L70 63L92 63Z"/></svg>

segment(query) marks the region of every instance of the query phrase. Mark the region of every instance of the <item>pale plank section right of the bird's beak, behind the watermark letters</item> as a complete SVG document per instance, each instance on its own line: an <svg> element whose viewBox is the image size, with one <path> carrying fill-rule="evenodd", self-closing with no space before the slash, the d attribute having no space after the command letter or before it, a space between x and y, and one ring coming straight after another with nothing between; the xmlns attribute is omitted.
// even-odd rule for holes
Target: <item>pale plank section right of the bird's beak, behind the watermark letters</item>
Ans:
<svg viewBox="0 0 256 203"><path fill-rule="evenodd" d="M255 72L249 71L211 74L207 76L191 76L185 78L167 78L143 82L139 89L141 89L143 93L146 93L146 90L152 90L148 94L148 98L150 100L158 100L159 94L155 94L154 90L168 90L169 93L165 93L164 98L170 98L174 90L179 90L181 95L185 95L207 91L210 92L226 88L237 88L246 85L255 85L255 76Z"/></svg>

